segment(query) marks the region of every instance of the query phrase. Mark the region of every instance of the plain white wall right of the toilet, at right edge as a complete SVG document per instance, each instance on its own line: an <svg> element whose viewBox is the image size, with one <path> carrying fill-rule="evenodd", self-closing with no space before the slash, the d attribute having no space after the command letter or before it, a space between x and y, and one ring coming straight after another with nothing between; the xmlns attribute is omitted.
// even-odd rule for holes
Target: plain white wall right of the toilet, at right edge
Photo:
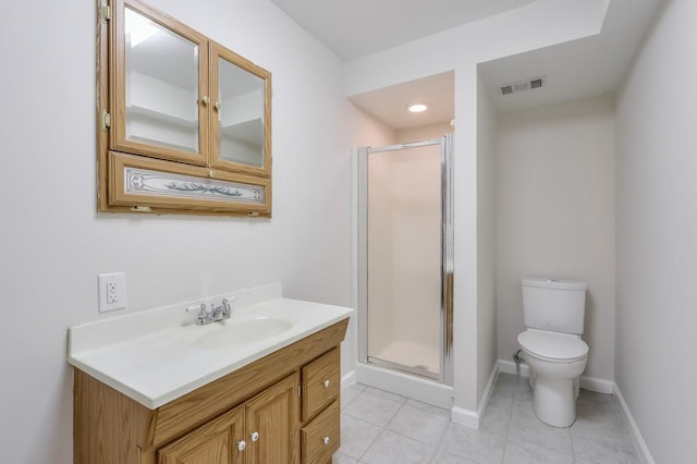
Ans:
<svg viewBox="0 0 697 464"><path fill-rule="evenodd" d="M697 455L696 17L665 2L617 105L615 379L657 463Z"/></svg>

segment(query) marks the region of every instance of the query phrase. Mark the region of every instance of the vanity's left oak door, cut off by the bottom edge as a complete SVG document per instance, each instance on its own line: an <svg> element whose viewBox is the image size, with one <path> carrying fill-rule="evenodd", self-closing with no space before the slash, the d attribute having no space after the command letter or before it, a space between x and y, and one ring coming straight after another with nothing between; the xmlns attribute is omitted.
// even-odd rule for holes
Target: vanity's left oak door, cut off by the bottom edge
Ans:
<svg viewBox="0 0 697 464"><path fill-rule="evenodd" d="M234 410L158 450L158 464L242 464L244 407ZM242 450L240 450L242 448Z"/></svg>

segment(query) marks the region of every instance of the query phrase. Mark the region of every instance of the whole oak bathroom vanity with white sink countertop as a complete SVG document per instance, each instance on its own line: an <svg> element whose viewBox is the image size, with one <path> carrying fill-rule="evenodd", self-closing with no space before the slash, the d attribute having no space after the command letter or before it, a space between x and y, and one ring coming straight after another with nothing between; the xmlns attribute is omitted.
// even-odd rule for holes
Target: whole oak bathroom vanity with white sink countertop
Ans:
<svg viewBox="0 0 697 464"><path fill-rule="evenodd" d="M351 313L279 297L233 305L230 322L180 319L125 341L118 334L129 322L119 319L129 316L111 329L109 320L71 328L74 462L331 462L340 445L340 343ZM90 331L95 325L103 327ZM280 329L268 329L273 325ZM235 345L223 337L242 337L235 327L256 340ZM107 343L95 346L102 338Z"/></svg>

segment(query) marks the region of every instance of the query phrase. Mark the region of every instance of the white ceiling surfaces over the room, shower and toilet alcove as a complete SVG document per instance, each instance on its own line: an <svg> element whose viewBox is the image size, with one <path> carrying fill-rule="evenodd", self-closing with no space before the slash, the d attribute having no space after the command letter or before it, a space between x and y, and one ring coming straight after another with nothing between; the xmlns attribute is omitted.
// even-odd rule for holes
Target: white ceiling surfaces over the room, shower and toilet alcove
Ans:
<svg viewBox="0 0 697 464"><path fill-rule="evenodd" d="M347 61L537 0L271 1ZM612 93L662 1L609 0L598 35L480 63L480 82L499 111ZM547 76L542 88L509 96L499 91L502 84L542 75ZM395 130L452 120L453 99L452 72L351 97L362 110ZM409 114L406 107L416 101L431 103L431 110Z"/></svg>

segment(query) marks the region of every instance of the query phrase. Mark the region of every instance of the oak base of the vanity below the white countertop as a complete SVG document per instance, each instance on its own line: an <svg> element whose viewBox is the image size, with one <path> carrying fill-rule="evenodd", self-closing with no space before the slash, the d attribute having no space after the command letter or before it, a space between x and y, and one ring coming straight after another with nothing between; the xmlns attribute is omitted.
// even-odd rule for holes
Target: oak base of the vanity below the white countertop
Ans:
<svg viewBox="0 0 697 464"><path fill-rule="evenodd" d="M344 319L157 410L75 369L75 464L331 462Z"/></svg>

